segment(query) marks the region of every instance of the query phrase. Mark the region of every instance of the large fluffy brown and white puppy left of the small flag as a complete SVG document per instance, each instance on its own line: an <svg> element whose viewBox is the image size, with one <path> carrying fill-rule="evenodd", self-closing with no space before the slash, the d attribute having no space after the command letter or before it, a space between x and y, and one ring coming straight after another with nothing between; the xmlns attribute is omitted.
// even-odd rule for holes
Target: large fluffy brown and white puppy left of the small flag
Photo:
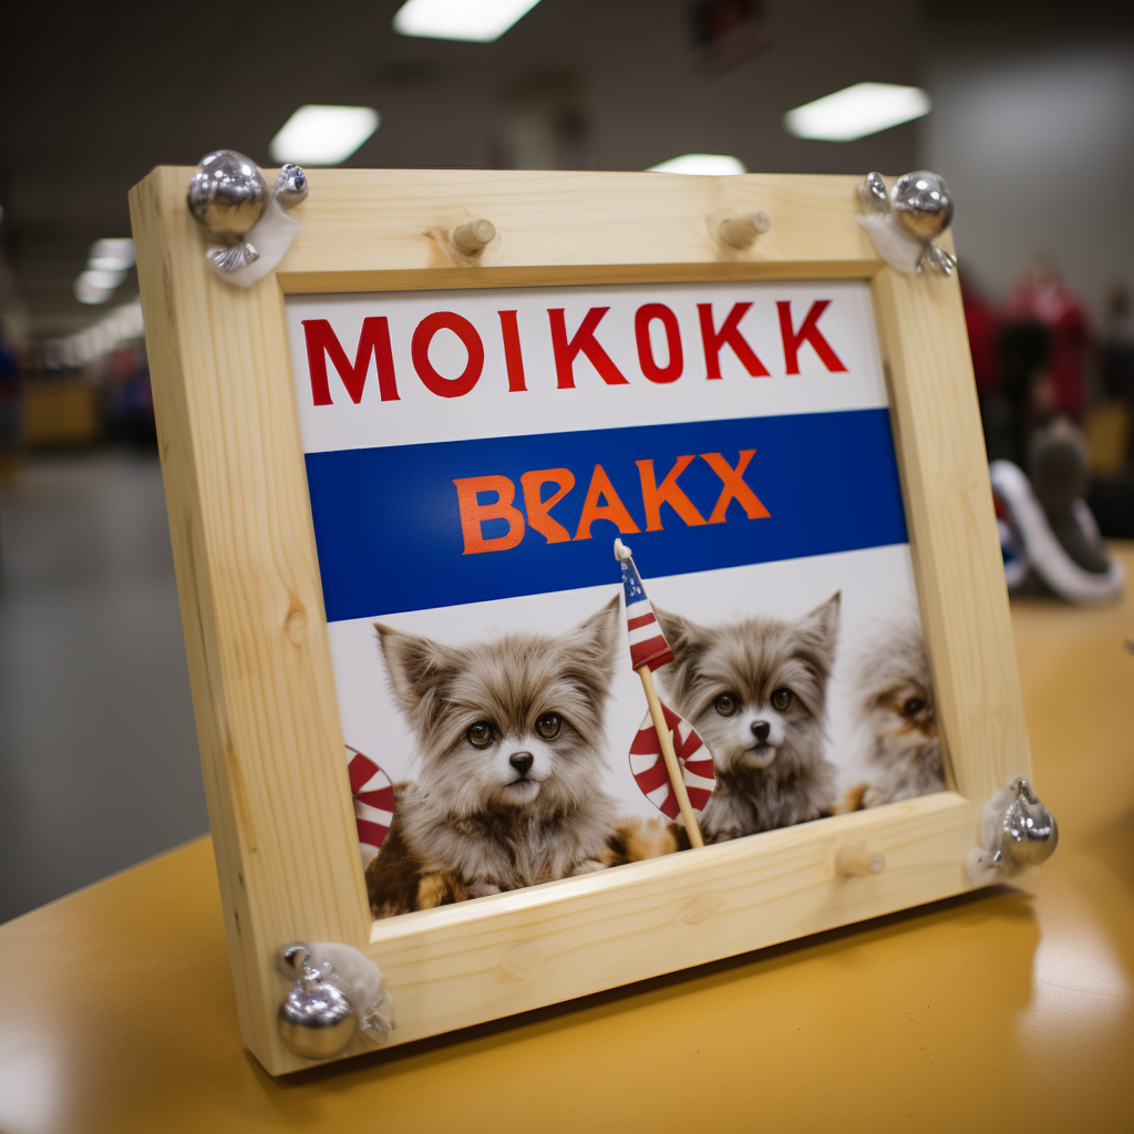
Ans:
<svg viewBox="0 0 1134 1134"><path fill-rule="evenodd" d="M619 623L616 598L558 637L451 646L376 624L421 775L366 870L375 917L677 849L602 789Z"/></svg>

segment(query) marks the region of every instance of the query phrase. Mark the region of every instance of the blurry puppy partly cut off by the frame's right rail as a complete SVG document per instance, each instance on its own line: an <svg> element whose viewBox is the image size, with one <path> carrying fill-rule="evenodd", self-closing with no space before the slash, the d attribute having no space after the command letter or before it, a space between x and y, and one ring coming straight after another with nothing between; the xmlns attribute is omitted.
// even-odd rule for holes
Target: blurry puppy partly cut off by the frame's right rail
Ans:
<svg viewBox="0 0 1134 1134"><path fill-rule="evenodd" d="M858 657L853 680L868 741L865 784L850 794L857 790L862 806L875 807L943 792L933 679L921 627L914 621L885 626Z"/></svg>

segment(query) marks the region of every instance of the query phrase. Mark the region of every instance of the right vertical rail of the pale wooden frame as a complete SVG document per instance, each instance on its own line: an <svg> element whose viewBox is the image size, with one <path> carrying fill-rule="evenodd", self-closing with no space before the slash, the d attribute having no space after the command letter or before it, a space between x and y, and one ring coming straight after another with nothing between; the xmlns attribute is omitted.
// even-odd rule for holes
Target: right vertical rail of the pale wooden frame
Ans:
<svg viewBox="0 0 1134 1134"><path fill-rule="evenodd" d="M987 799L1032 764L960 285L886 268L871 291L951 781Z"/></svg>

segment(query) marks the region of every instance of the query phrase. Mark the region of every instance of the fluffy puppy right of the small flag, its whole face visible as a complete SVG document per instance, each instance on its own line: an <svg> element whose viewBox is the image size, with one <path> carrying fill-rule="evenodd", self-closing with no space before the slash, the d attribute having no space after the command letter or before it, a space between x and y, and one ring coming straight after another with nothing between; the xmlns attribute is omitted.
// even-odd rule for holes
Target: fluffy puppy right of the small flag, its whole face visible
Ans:
<svg viewBox="0 0 1134 1134"><path fill-rule="evenodd" d="M706 841L829 812L835 768L823 756L823 726L839 595L796 621L699 626L654 613L675 658L658 670L667 700L713 754L717 786L701 819Z"/></svg>

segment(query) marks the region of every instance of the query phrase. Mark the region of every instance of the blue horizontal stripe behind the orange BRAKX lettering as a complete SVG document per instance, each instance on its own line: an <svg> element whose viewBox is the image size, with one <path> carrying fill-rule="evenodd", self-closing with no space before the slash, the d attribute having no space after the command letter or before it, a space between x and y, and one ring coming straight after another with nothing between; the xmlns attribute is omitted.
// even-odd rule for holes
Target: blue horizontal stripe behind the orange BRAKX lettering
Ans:
<svg viewBox="0 0 1134 1134"><path fill-rule="evenodd" d="M660 484L678 457L696 455L678 483L708 518L721 481L700 454L720 452L735 467L742 449L756 450L744 481L769 517L748 519L734 500L725 523L686 526L662 505L663 530L645 532L635 462L652 458ZM574 535L594 466L602 465L643 530L624 539L648 578L907 539L886 409L345 449L306 459L331 621L619 582L611 552L619 533L606 519L589 540L549 543L528 526L515 548L465 555L454 485L464 477L509 477L523 510L523 473L569 468L575 488L551 516ZM496 499L485 493L480 502ZM506 531L502 519L481 528L485 539Z"/></svg>

